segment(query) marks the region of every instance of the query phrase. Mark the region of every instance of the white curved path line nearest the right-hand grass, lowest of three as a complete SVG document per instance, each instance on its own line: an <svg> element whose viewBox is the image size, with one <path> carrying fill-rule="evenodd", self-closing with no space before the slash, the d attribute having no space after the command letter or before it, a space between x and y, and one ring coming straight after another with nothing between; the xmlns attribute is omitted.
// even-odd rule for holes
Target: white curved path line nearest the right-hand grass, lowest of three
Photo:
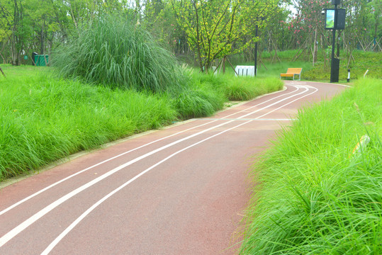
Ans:
<svg viewBox="0 0 382 255"><path fill-rule="evenodd" d="M309 96L311 94L314 94L315 92L318 91L318 89L314 88L315 91L313 91L312 93L310 94L307 94L305 96ZM279 108L276 108L272 111L270 111L269 113L272 113L276 110L279 110L280 108L283 108L284 106L288 106L290 103L293 103L297 100L300 100L301 98L304 98L305 96L301 96L300 98L296 98L295 100L289 102L289 103L286 103L284 104L283 106L280 106ZM265 113L264 115L268 115L269 113ZM262 118L264 115L262 116L259 116L255 119L258 119L258 118ZM71 225L69 225L69 227L67 227L66 229L64 229L64 231L58 236L56 237L55 240L53 240L52 243L50 243L47 248L43 251L43 253L41 253L41 255L47 255L50 253L50 251L52 251L52 249L55 248L55 246L70 232L72 231L72 229L74 229L74 227L76 227L79 222L81 222L82 220L84 220L84 218L89 215L89 213L91 211L93 211L94 209L96 209L99 205L101 205L101 203L103 203L105 200L107 200L108 198L110 198L111 196L113 196L115 193L117 193L118 191L120 191L122 188L125 188L125 186L128 186L128 184L132 183L133 181L135 181L136 179L138 179L140 176L146 174L148 171L154 169L156 166L159 166L159 164L162 164L163 162L166 162L168 159L171 159L172 157L174 157L176 154L179 154L181 152L184 152L186 149L189 149L191 147L194 147L196 145L199 145L201 144L202 142L206 142L207 140L210 140L211 138L213 137L217 137L218 135L222 135L223 133L227 132L227 131L230 131L232 129L235 129L235 128L239 128L240 126L242 125L245 125L247 123L251 123L253 120L248 120L246 121L245 123L241 123L240 125L236 125L235 127L232 127L232 128L228 128L227 130L223 130L222 132L219 132L215 135L211 135L210 137L207 137L199 142L196 142L194 143L193 145L189 145L188 147L185 147L184 149L180 149L179 151L177 152L174 152L173 154L169 155L168 157L162 159L161 161L157 162L156 164L150 166L148 169L146 169L145 171L142 171L140 174L137 174L136 176L134 176L132 179L130 179L129 181L123 183L121 186L119 186L118 188L116 188L115 190L111 191L111 193L108 193L106 196L104 196L103 198L101 198L101 200L98 200L94 205L92 205L90 208L88 208L84 213L82 213L82 215L80 215L79 217L77 217L76 220L74 220L74 222L72 222Z"/></svg>

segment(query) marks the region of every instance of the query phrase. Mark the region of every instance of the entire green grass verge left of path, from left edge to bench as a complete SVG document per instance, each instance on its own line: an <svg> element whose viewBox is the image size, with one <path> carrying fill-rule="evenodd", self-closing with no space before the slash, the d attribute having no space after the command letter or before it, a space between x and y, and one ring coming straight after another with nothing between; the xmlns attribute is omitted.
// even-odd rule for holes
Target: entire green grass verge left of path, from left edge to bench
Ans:
<svg viewBox="0 0 382 255"><path fill-rule="evenodd" d="M213 115L227 102L227 87L240 82L189 74L177 94L154 94L57 79L50 67L1 68L7 78L0 76L0 181L175 120ZM282 86L272 79L245 80L261 93Z"/></svg>

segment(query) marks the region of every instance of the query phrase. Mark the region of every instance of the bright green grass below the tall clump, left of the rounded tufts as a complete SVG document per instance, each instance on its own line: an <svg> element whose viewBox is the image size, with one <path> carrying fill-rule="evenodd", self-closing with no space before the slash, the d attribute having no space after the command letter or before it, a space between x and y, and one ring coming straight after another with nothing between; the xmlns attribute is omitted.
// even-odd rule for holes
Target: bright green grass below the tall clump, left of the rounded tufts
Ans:
<svg viewBox="0 0 382 255"><path fill-rule="evenodd" d="M7 79L0 78L0 180L177 117L166 97L52 79L37 70L4 67Z"/></svg>

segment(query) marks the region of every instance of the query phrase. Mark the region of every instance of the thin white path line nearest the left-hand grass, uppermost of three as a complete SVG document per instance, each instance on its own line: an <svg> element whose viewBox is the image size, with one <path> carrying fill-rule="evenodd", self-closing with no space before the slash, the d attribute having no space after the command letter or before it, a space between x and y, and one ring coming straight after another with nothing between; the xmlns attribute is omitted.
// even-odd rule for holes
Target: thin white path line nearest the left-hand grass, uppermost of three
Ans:
<svg viewBox="0 0 382 255"><path fill-rule="evenodd" d="M264 104L264 103L268 103L269 101L272 101L272 100L274 100L274 99L276 99L276 98L279 98L279 97L281 97L281 96L286 96L286 95L288 95L288 94L292 94L292 93L294 93L294 92L296 92L296 91L298 91L298 90L299 90L299 88L296 88L296 90L294 90L294 91L288 92L288 93L286 93L286 94L281 94L280 96L276 96L276 97L271 98L271 99L269 99L269 100L267 100L267 101L264 101L264 102L262 102L262 103L258 103L258 104L255 105L255 106L251 106L250 108L246 108L245 110L239 111L239 112L237 112L237 113L242 113L243 111L247 111L247 110L249 110L249 109L251 109L251 108L254 108L254 107L257 107L257 106L261 106L261 105ZM283 91L280 91L280 92L283 92ZM232 116L232 115L235 115L235 114L237 114L237 113L232 113L232 114L227 115L227 116L225 116L225 117L223 117L223 118L228 118L228 117L230 117L230 116ZM118 158L118 157L122 157L123 155L128 154L128 153L130 153L130 152L134 152L134 151L137 150L137 149L142 149L143 147L146 147L146 146L148 146L148 145L152 145L152 144L154 144L155 142L159 142L159 141L165 140L165 139L167 139L167 138L169 138L169 137L173 137L173 136L175 136L175 135L179 135L179 134L181 134L181 133L183 133L183 132L186 132L186 131L189 131L189 130L193 130L193 129L195 129L195 128L201 128L202 126L204 126L204 125L208 125L208 124L210 124L210 123L214 123L215 121L218 121L218 120L213 120L213 121L210 121L209 123L204 123L204 124L202 124L202 125L198 125L198 126L193 127L193 128L189 128L189 129L186 129L186 130L182 130L182 131L180 131L180 132L176 132L176 133L174 133L174 134L172 134L172 135L168 135L167 137L162 137L162 138L160 138L160 139L158 139L158 140L149 142L149 143L147 143L147 144L145 144L145 145L142 145L142 146L140 146L140 147L137 147L137 148L135 148L135 149L130 149L128 152L123 152L123 153L121 153L121 154L116 155L115 157L111 157L111 158L109 158L109 159L106 159L106 160L104 160L103 162L99 162L99 163L97 163L97 164L94 164L93 166L89 166L89 167L86 168L86 169L83 169L83 170L81 170L81 171L78 171L78 172L75 173L75 174L72 174L72 175L70 175L70 176L67 176L67 177L64 178L64 179L62 179L62 180L60 180L60 181L57 181L57 182L55 182L55 183L52 183L50 186L47 186L47 187L43 188L42 190L37 191L36 193L33 193L32 195L30 195L30 196L28 196L28 197L26 197L26 198L23 198L23 200L20 200L20 201L18 201L17 203L15 203L15 204L9 206L8 208L2 210L2 211L0 212L0 215L3 215L4 213L8 212L9 210L12 210L13 208L16 208L16 206L21 205L22 203L25 203L27 200L30 200L30 198L34 198L35 196L40 195L40 193L43 193L43 192L49 190L50 188L53 188L54 186L57 186L58 184L60 184L60 183L62 183L62 182L64 182L64 181L67 181L67 180L69 180L69 179L71 179L71 178L73 178L74 176L77 176L77 175L79 175L79 174L82 174L82 173L84 173L85 171L88 171L88 170L90 170L90 169L93 169L93 168L96 167L96 166L99 166L99 165L101 165L101 164L104 164L104 163L106 163L106 162L109 162L109 161L111 161L111 160L113 160L113 159L116 159L116 158Z"/></svg>

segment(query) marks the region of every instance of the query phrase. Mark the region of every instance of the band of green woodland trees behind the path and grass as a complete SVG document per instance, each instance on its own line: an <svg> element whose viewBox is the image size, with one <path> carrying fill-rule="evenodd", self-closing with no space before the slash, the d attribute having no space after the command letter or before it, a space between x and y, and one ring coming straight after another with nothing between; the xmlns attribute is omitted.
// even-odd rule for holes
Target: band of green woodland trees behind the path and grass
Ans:
<svg viewBox="0 0 382 255"><path fill-rule="evenodd" d="M3 0L0 3L0 63L32 64L32 52L52 50L81 33L82 26L116 15L148 30L183 62L201 70L235 55L254 59L254 42L262 52L297 50L293 60L310 55L313 66L329 64L332 33L324 29L323 0ZM342 0L346 28L337 33L337 55L353 50L381 52L381 0ZM259 36L255 37L256 27ZM28 56L28 59L26 59Z"/></svg>

